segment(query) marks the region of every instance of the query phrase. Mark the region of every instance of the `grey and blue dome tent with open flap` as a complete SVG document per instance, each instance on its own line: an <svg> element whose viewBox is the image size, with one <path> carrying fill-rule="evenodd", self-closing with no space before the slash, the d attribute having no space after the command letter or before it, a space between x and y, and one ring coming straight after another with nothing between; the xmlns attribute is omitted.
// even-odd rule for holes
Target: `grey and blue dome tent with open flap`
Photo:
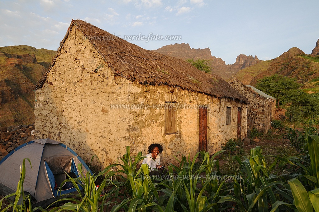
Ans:
<svg viewBox="0 0 319 212"><path fill-rule="evenodd" d="M66 183L62 185L62 191L57 191L67 178L66 173L70 177L78 177L91 172L80 156L64 144L48 138L33 140L15 148L0 161L0 194L16 192L24 158L29 158L32 165L31 169L26 161L23 187L34 198L33 206L45 207L62 194L76 192ZM82 173L78 169L79 164L84 167Z"/></svg>

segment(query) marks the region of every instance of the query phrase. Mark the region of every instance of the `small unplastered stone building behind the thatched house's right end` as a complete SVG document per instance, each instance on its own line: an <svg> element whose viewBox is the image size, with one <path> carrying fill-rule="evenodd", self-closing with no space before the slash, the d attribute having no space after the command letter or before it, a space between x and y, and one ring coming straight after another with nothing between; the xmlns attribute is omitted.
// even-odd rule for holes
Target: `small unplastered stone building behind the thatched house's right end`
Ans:
<svg viewBox="0 0 319 212"><path fill-rule="evenodd" d="M249 101L247 108L247 133L253 127L262 132L268 132L271 121L276 117L275 98L255 87L242 84L235 77L232 77L228 83Z"/></svg>

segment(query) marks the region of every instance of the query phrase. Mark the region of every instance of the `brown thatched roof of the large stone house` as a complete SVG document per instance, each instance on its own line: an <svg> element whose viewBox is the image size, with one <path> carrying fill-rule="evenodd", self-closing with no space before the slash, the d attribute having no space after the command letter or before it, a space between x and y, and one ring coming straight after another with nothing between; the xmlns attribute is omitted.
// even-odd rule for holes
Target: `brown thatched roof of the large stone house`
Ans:
<svg viewBox="0 0 319 212"><path fill-rule="evenodd" d="M83 20L72 20L67 34L60 43L60 48L62 48L72 27L76 27L88 38L87 40L98 50L114 74L128 80L140 84L180 87L217 98L224 97L248 102L243 95L217 75L201 72L191 64L176 57L146 50L120 38L115 38L114 35ZM109 39L112 37L115 39ZM60 49L57 51L56 57L59 52ZM55 59L51 67L54 63ZM43 85L46 76L39 81L36 89Z"/></svg>

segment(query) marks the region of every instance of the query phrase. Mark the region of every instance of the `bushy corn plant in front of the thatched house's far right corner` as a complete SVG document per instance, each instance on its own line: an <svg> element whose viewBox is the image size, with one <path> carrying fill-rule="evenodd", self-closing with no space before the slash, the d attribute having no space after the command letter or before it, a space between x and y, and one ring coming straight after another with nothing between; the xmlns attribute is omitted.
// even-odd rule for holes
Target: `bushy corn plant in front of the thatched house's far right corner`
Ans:
<svg viewBox="0 0 319 212"><path fill-rule="evenodd" d="M285 181L283 177L271 174L277 158L268 166L262 155L262 148L256 147L250 150L250 155L243 161L238 156L234 156L234 159L240 164L240 169L233 178L234 195L223 196L218 203L234 202L235 206L228 205L226 208L239 211L268 211L268 204L273 205L279 200L278 189L282 188ZM293 164L285 158L280 163ZM280 191L282 196L292 200L288 191Z"/></svg>

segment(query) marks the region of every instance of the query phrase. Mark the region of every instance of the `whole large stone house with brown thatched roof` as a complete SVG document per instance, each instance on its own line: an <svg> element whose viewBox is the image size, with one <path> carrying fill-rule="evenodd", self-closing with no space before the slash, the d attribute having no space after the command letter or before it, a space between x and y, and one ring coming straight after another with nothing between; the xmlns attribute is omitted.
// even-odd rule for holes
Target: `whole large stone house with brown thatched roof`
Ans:
<svg viewBox="0 0 319 212"><path fill-rule="evenodd" d="M72 20L51 68L35 88L35 133L104 165L160 143L214 153L247 134L248 100L218 76Z"/></svg>

